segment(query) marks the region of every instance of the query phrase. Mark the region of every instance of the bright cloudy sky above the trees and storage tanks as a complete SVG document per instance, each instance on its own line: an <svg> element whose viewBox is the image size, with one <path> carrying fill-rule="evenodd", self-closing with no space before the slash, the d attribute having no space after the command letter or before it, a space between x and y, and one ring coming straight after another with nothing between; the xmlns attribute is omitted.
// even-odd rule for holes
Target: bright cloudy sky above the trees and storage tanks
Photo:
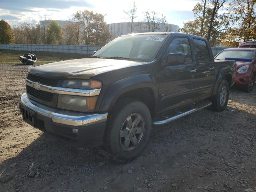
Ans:
<svg viewBox="0 0 256 192"><path fill-rule="evenodd" d="M10 25L16 22L31 22L32 20L69 20L72 14L79 10L92 10L105 15L107 24L128 22L123 10L129 10L134 0L0 0L0 20L6 20ZM166 16L170 24L180 27L183 22L194 19L192 9L200 0L135 0L137 18L144 19L144 12L154 10Z"/></svg>

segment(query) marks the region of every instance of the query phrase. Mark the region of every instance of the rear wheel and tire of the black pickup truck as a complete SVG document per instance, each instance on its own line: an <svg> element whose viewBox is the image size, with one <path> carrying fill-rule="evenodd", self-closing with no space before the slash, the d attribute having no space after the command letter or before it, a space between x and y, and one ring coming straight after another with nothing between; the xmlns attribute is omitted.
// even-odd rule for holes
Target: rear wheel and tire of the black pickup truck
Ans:
<svg viewBox="0 0 256 192"><path fill-rule="evenodd" d="M222 80L217 90L217 94L212 99L212 109L221 112L226 109L229 97L229 85L227 80Z"/></svg>

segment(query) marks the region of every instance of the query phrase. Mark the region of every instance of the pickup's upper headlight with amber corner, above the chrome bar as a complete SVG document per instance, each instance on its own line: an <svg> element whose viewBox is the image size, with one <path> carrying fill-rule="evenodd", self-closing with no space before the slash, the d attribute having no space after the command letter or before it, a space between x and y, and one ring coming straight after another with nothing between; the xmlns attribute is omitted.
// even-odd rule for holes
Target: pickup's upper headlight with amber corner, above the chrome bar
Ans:
<svg viewBox="0 0 256 192"><path fill-rule="evenodd" d="M74 89L100 89L101 82L96 80L84 80L84 79L67 79L62 83L62 87L74 88Z"/></svg>

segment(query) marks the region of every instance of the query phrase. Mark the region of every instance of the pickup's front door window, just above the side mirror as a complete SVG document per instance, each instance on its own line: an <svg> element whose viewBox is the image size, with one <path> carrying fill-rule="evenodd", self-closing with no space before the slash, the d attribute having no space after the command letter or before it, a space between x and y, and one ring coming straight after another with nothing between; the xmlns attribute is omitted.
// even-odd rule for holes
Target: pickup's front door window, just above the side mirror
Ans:
<svg viewBox="0 0 256 192"><path fill-rule="evenodd" d="M167 50L167 54L169 53L184 53L185 62L192 62L192 54L188 38L175 38L172 40Z"/></svg>

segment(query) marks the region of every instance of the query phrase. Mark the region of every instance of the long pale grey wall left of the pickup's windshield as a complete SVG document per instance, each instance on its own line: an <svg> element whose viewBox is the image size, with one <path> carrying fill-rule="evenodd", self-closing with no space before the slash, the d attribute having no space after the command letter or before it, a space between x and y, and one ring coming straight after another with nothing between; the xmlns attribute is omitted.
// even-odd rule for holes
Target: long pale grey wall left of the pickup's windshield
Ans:
<svg viewBox="0 0 256 192"><path fill-rule="evenodd" d="M46 51L60 53L76 53L91 55L102 46L87 45L20 45L20 44L0 44L0 49L21 50L21 51Z"/></svg>

